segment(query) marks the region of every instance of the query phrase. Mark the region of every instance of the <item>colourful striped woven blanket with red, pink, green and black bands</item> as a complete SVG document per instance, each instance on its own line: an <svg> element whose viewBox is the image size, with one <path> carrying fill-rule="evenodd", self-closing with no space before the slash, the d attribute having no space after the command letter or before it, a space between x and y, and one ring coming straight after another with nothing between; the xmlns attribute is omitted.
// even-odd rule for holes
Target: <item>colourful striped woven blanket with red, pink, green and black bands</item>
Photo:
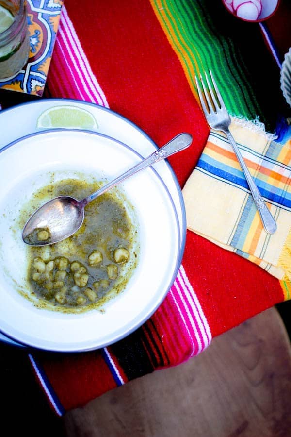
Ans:
<svg viewBox="0 0 291 437"><path fill-rule="evenodd" d="M282 103L279 69L259 26L232 17L220 1L65 2L45 92L109 107L158 145L180 132L192 134L190 148L169 160L182 187L209 136L194 86L194 74L209 67L227 109L248 119L259 114L274 132ZM285 297L275 276L187 231L178 277L142 327L98 351L33 351L30 359L51 406L62 415L113 387L187 360L212 337Z"/></svg>

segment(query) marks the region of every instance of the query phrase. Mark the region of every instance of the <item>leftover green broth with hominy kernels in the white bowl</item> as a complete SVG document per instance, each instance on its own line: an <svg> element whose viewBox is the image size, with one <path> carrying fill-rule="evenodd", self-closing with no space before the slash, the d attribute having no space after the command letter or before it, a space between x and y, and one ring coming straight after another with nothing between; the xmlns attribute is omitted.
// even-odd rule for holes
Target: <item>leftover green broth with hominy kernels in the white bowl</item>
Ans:
<svg viewBox="0 0 291 437"><path fill-rule="evenodd" d="M65 179L38 190L32 203L61 195L82 199L100 185ZM38 306L66 313L100 309L124 289L138 260L137 224L129 211L132 206L113 189L85 207L84 222L74 235L29 247L28 282ZM118 257L119 252L125 256Z"/></svg>

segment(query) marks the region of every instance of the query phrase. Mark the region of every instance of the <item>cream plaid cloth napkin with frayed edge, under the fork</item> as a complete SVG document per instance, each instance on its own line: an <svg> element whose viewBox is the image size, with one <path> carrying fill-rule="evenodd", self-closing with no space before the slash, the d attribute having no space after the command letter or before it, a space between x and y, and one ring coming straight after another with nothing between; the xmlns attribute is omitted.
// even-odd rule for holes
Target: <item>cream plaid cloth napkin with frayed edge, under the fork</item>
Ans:
<svg viewBox="0 0 291 437"><path fill-rule="evenodd" d="M261 123L232 118L233 134L260 193L276 220L268 235L226 136L210 132L207 144L183 188L187 228L235 252L291 288L291 129L272 141Z"/></svg>

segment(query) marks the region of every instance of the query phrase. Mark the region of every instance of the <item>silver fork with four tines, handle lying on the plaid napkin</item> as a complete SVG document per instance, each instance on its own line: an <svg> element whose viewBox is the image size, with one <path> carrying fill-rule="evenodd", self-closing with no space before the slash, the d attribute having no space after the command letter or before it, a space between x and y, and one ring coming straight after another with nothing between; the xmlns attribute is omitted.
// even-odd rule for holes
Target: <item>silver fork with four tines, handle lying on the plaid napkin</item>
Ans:
<svg viewBox="0 0 291 437"><path fill-rule="evenodd" d="M231 123L231 119L230 119L229 114L226 110L226 106L225 106L224 101L221 97L221 94L218 90L218 87L214 81L212 73L210 70L209 70L209 72L210 72L210 77L211 77L211 81L212 81L216 96L214 94L213 87L210 85L210 81L209 81L206 73L205 73L205 78L206 78L209 92L207 91L207 88L203 82L202 76L200 75L202 90L200 89L200 86L198 84L198 80L195 77L197 90L198 90L198 94L199 94L199 99L201 102L202 109L204 111L204 115L207 119L209 126L212 129L214 129L216 131L222 131L226 134L228 141L230 142L231 146L233 147L233 150L236 154L236 157L237 157L237 159L242 167L242 171L244 173L245 179L246 179L248 186L250 188L250 191L252 193L255 205L259 211L259 215L260 215L262 224L264 226L264 229L268 234L274 234L276 229L277 229L276 222L275 222L272 214L270 213L269 209L267 208L267 206L264 202L264 199L262 198L262 196L259 192L259 189L258 189L257 185L255 184L248 168L246 167L246 165L243 161L241 152L240 152L232 134L229 132L228 127ZM209 94L210 94L210 96L209 96ZM203 96L207 102L208 107L205 104ZM211 99L210 99L210 97L211 97Z"/></svg>

